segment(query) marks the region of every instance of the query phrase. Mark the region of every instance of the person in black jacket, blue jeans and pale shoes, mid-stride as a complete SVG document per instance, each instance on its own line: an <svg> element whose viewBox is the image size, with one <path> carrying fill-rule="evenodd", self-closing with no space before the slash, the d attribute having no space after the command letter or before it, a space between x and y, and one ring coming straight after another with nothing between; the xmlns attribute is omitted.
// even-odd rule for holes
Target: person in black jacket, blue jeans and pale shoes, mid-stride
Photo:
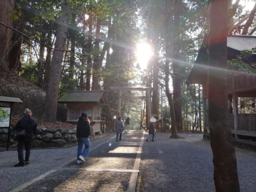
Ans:
<svg viewBox="0 0 256 192"><path fill-rule="evenodd" d="M76 137L78 142L78 148L77 148L78 164L85 162L84 157L88 157L89 149L90 149L90 140L89 140L90 135L91 135L90 120L87 117L86 113L82 113L76 125ZM82 153L83 144L85 145L85 148Z"/></svg>

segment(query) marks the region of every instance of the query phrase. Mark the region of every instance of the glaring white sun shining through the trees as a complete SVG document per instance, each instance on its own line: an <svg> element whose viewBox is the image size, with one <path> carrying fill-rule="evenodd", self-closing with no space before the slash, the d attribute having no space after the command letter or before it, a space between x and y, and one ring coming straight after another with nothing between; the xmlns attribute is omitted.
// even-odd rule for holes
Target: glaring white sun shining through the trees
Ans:
<svg viewBox="0 0 256 192"><path fill-rule="evenodd" d="M151 46L147 43L139 43L136 47L136 57L137 63L139 63L140 68L146 69L147 63L150 57L152 56Z"/></svg>

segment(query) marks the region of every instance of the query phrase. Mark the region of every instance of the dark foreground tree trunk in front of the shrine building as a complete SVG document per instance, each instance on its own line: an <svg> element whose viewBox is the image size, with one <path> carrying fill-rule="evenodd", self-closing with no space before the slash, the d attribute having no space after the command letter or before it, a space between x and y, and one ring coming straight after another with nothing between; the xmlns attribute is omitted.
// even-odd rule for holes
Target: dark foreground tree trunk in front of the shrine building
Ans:
<svg viewBox="0 0 256 192"><path fill-rule="evenodd" d="M227 98L227 15L228 0L212 0L208 69L209 127L216 191L238 192L240 188Z"/></svg>

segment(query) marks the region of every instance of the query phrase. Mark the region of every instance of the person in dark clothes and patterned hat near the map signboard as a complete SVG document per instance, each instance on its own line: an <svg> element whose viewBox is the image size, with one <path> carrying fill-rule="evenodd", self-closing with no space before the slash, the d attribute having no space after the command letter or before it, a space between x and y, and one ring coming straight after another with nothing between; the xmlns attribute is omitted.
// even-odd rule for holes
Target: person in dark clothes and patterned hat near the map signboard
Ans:
<svg viewBox="0 0 256 192"><path fill-rule="evenodd" d="M22 167L24 165L29 164L31 143L33 140L35 130L37 129L37 122L31 116L32 116L31 110L25 109L24 117L22 117L15 126L15 129L17 130L17 132L22 131L23 129L25 129L25 132L26 132L25 135L19 136L17 138L18 139L17 151L18 151L19 163L14 165L15 167ZM23 154L24 145L26 150L25 161L24 161L24 154Z"/></svg>

